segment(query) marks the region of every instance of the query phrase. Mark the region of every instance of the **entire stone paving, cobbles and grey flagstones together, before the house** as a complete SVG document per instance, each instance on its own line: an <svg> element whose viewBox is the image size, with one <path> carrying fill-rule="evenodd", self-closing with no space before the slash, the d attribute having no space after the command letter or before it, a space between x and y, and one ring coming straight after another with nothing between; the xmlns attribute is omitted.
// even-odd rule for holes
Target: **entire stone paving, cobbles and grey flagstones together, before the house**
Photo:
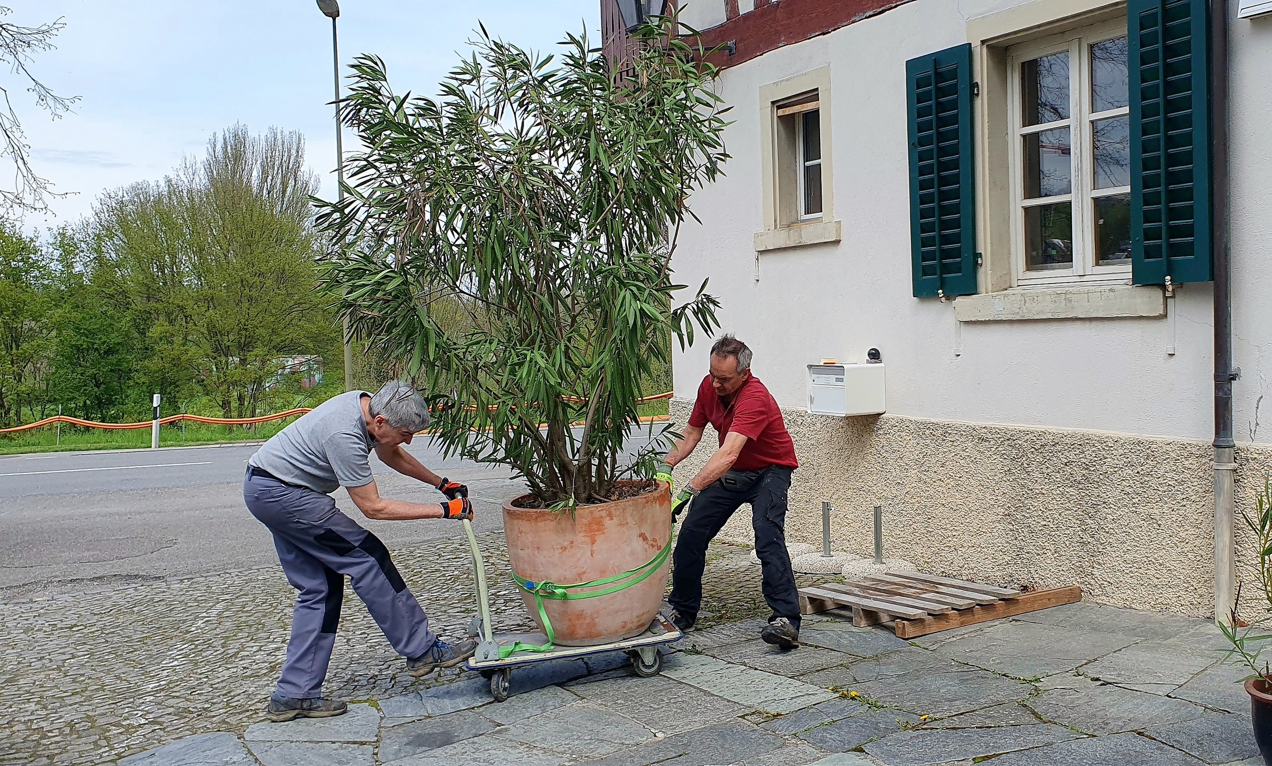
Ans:
<svg viewBox="0 0 1272 766"><path fill-rule="evenodd" d="M528 626L494 542L495 621ZM394 557L440 630L462 631L467 548ZM473 673L406 676L351 603L327 691L360 704L286 724L259 716L290 617L275 569L6 604L0 763L1262 763L1207 621L1082 602L904 641L815 616L780 653L758 640L758 574L745 550L712 548L705 629L660 676L622 655L544 663L502 704Z"/></svg>

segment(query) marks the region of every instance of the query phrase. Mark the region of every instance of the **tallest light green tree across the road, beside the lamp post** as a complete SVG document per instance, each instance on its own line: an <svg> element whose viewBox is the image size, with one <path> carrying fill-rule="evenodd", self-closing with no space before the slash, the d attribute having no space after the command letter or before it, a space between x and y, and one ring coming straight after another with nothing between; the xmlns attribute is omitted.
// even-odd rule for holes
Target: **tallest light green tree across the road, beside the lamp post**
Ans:
<svg viewBox="0 0 1272 766"><path fill-rule="evenodd" d="M103 197L95 268L144 338L146 384L168 396L195 386L225 416L253 416L280 358L332 347L314 291L315 187L300 134L235 125L201 162Z"/></svg>

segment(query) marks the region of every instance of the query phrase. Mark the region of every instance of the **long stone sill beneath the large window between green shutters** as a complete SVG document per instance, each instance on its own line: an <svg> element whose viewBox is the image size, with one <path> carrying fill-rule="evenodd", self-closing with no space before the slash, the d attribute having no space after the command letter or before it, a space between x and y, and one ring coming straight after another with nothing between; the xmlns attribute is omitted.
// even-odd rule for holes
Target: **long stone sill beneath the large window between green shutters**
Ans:
<svg viewBox="0 0 1272 766"><path fill-rule="evenodd" d="M1137 285L1016 289L954 299L959 322L1165 317L1160 288Z"/></svg>

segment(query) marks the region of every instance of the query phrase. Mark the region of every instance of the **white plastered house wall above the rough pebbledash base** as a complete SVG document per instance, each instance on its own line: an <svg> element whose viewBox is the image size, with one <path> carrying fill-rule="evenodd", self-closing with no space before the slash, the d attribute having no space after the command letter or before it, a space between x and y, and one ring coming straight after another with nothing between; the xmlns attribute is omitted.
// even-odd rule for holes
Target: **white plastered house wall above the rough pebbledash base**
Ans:
<svg viewBox="0 0 1272 766"><path fill-rule="evenodd" d="M714 5L714 4L703 4ZM831 34L726 70L734 104L728 176L691 200L701 225L682 230L674 266L684 284L710 277L722 330L756 352L754 370L778 402L805 403L805 365L883 351L888 411L907 417L1079 428L1187 439L1212 433L1211 285L1186 285L1168 321L974 322L957 330L951 304L911 295L906 60L967 42L968 18L1004 0L915 0ZM693 8L693 4L689 6ZM1235 15L1235 14L1234 14ZM831 66L834 216L840 243L766 252L759 88ZM1233 284L1238 438L1250 438L1272 377L1272 22L1234 19ZM827 140L823 137L823 140ZM955 355L955 333L962 354ZM675 391L692 397L707 342L679 352ZM1257 442L1272 443L1272 397Z"/></svg>

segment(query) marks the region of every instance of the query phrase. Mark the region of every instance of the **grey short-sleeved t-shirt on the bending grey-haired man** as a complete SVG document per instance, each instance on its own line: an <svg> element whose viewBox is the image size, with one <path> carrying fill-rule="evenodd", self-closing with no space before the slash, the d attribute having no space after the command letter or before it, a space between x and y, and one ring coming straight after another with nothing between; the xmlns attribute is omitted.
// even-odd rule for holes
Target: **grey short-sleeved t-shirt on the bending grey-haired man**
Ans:
<svg viewBox="0 0 1272 766"><path fill-rule="evenodd" d="M375 440L363 419L364 396L371 394L350 391L318 405L262 444L248 466L318 492L371 484Z"/></svg>

